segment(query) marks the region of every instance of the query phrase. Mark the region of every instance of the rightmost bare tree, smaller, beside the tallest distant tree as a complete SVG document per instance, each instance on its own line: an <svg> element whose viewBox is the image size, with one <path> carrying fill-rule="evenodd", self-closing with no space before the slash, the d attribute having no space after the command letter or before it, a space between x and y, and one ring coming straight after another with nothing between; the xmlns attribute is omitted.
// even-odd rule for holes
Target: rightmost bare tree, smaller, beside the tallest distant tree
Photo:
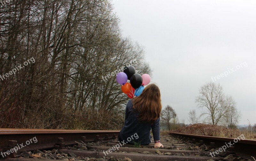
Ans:
<svg viewBox="0 0 256 161"><path fill-rule="evenodd" d="M226 96L222 103L227 112L224 115L224 122L228 128L237 128L237 123L241 117L240 112L236 108L236 102L232 96Z"/></svg>

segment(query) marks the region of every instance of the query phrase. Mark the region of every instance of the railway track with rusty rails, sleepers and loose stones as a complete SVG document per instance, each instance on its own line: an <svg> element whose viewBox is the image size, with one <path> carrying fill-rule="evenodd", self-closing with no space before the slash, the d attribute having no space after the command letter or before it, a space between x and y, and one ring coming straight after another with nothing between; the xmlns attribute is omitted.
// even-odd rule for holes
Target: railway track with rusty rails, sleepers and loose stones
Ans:
<svg viewBox="0 0 256 161"><path fill-rule="evenodd" d="M236 157L240 155L236 151L234 152L234 148L229 148L225 155L216 154L212 157L209 150L216 148L215 146L219 145L219 142L207 140L206 136L204 138L196 138L196 136L193 138L185 134L172 133L160 137L164 149L158 149L153 148L154 143L137 145L138 147L124 142L120 143L117 139L118 133L119 131L99 130L0 129L0 151L5 152L5 154L10 151L10 154L6 157L0 155L2 157L0 159L207 161L210 159L223 160L228 155ZM255 144L250 141L243 140L243 143L251 143L254 147L250 146L250 148L255 148ZM14 152L11 153L11 149L18 146L20 149L12 150ZM243 157L248 159L250 156L244 155Z"/></svg>

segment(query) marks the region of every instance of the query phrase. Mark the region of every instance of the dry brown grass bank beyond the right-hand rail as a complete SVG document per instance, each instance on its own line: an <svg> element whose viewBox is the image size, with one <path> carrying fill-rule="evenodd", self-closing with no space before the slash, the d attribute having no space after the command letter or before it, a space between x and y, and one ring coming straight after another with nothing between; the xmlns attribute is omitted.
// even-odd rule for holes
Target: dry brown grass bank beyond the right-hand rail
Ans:
<svg viewBox="0 0 256 161"><path fill-rule="evenodd" d="M220 125L209 125L209 124L193 124L191 126L182 127L172 132L193 134L193 135L204 135L204 136L216 136L216 137L229 137L237 138L240 135L244 135L245 139L256 140L256 135L250 130L240 131L239 129L229 129Z"/></svg>

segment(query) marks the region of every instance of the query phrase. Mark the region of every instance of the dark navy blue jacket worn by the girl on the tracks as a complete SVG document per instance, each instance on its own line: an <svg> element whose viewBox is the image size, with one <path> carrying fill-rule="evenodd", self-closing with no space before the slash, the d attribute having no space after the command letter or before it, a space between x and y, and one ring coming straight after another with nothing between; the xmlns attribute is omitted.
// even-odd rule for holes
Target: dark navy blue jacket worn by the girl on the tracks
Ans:
<svg viewBox="0 0 256 161"><path fill-rule="evenodd" d="M133 104L132 99L128 101L125 109L124 127L121 129L118 140L124 140L124 143L134 144L140 142L140 145L147 145L151 143L150 129L154 136L154 141L160 140L160 118L158 118L153 125L151 122L142 122L136 116L138 112L132 113Z"/></svg>

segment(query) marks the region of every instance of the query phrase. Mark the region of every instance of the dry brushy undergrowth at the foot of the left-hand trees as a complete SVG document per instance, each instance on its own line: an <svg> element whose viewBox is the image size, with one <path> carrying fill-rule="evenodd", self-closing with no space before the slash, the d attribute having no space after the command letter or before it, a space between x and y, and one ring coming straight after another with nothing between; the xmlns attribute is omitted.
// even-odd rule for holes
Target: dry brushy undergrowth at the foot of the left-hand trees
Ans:
<svg viewBox="0 0 256 161"><path fill-rule="evenodd" d="M124 116L107 110L40 108L24 110L22 103L0 101L0 128L120 130Z"/></svg>

